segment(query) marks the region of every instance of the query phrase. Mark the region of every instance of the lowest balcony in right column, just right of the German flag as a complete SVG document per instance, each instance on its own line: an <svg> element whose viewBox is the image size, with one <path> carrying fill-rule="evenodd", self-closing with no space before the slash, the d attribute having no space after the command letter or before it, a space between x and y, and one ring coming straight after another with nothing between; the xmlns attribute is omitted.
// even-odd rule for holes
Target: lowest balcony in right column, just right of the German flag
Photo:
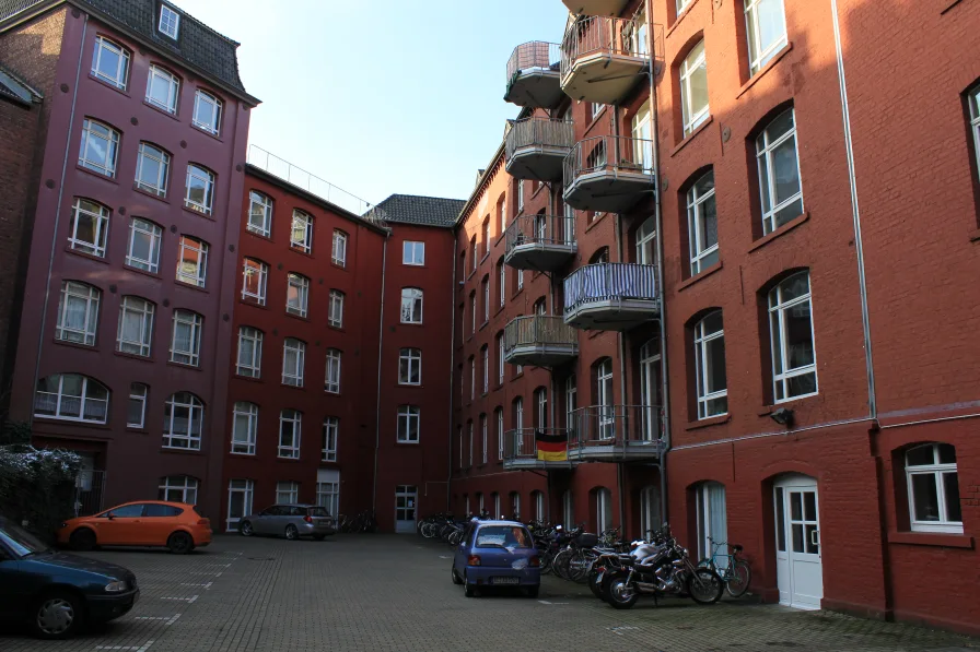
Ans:
<svg viewBox="0 0 980 652"><path fill-rule="evenodd" d="M658 405L593 405L572 413L573 462L657 462L665 450Z"/></svg>

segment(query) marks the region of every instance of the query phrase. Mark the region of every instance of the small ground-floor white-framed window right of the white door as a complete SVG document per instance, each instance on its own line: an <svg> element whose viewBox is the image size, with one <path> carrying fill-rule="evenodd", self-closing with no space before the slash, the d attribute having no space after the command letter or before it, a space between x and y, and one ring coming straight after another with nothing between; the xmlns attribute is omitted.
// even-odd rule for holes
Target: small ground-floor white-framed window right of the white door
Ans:
<svg viewBox="0 0 980 652"><path fill-rule="evenodd" d="M925 443L909 449L906 479L913 532L962 534L955 447Z"/></svg>

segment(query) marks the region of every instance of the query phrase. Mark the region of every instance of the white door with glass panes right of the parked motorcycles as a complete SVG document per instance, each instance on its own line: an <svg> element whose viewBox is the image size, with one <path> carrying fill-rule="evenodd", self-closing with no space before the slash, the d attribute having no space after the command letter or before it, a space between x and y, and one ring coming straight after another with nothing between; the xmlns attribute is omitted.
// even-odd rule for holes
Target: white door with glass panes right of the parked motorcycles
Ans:
<svg viewBox="0 0 980 652"><path fill-rule="evenodd" d="M775 571L780 604L819 609L824 597L817 481L793 475L775 483Z"/></svg>

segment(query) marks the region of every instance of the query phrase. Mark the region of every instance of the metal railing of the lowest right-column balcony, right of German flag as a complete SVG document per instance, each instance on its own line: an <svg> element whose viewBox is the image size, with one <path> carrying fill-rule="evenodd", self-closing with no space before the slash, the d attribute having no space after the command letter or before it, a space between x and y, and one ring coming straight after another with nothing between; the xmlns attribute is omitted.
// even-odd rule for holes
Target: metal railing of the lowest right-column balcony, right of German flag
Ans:
<svg viewBox="0 0 980 652"><path fill-rule="evenodd" d="M656 444L663 441L660 405L592 405L572 412L569 451L602 446Z"/></svg>

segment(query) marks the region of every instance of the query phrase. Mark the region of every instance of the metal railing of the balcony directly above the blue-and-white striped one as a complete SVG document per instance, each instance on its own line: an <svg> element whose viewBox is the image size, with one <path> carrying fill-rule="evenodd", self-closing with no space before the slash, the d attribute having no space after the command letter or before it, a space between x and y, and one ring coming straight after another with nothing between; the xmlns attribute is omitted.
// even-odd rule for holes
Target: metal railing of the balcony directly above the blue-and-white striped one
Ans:
<svg viewBox="0 0 980 652"><path fill-rule="evenodd" d="M653 183L653 141L629 135L594 135L572 146L562 164L564 187L595 173L648 175Z"/></svg>

